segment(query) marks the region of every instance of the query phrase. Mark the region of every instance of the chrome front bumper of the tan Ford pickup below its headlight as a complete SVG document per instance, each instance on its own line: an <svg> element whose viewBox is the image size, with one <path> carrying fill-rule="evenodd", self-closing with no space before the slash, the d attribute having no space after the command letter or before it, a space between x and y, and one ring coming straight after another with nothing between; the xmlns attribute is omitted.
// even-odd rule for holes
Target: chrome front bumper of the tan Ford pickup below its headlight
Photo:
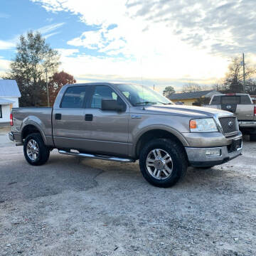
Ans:
<svg viewBox="0 0 256 256"><path fill-rule="evenodd" d="M240 138L242 139L242 137ZM230 151L229 146L218 146L209 148L185 147L188 161L194 167L207 167L223 164L242 154L242 144L238 149ZM219 150L220 156L207 156L206 151Z"/></svg>

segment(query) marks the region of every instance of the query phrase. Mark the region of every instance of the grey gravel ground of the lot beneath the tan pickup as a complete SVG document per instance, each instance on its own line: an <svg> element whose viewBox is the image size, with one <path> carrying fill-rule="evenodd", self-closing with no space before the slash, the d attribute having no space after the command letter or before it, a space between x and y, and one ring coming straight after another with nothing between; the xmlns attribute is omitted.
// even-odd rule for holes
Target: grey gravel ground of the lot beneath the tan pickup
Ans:
<svg viewBox="0 0 256 256"><path fill-rule="evenodd" d="M0 255L256 255L255 152L156 188L138 163L0 147Z"/></svg>

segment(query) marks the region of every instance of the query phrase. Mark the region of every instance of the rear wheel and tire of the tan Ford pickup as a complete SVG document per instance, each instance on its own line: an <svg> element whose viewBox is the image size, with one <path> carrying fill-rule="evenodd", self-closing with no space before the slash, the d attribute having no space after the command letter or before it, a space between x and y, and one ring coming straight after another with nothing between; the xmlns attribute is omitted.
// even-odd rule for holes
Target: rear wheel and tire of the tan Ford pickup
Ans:
<svg viewBox="0 0 256 256"><path fill-rule="evenodd" d="M32 133L25 139L23 153L28 164L40 166L48 161L50 149L44 144L41 134Z"/></svg>

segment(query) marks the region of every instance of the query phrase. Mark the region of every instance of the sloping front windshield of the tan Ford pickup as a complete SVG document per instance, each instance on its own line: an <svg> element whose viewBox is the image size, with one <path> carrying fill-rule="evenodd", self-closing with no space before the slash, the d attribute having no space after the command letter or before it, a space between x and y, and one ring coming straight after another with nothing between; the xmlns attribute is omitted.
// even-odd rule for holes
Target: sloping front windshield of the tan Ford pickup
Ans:
<svg viewBox="0 0 256 256"><path fill-rule="evenodd" d="M174 104L158 92L144 85L117 85L122 94L127 97L133 106L139 105L171 105Z"/></svg>

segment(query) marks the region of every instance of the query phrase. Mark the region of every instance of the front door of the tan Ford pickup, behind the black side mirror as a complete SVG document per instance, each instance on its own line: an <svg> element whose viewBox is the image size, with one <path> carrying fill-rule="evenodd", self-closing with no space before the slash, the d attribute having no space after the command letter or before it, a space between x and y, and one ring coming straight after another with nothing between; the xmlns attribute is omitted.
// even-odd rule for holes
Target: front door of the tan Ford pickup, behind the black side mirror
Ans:
<svg viewBox="0 0 256 256"><path fill-rule="evenodd" d="M125 112L102 111L102 99L113 99L126 106ZM101 154L128 154L129 107L112 87L95 85L89 100L87 113L92 115L90 151Z"/></svg>

